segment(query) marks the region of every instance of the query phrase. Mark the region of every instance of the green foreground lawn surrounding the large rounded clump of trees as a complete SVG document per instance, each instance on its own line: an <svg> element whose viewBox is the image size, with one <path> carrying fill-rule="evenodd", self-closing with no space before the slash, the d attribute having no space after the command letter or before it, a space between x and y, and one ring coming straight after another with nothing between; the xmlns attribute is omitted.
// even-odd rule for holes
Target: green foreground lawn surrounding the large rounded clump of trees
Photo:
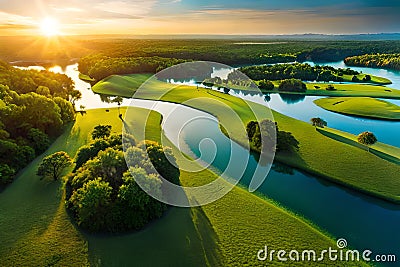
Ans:
<svg viewBox="0 0 400 267"><path fill-rule="evenodd" d="M124 109L122 109L124 111ZM147 114L135 111L131 125L143 125ZM151 113L147 137L160 140L161 116ZM98 124L121 131L117 109L88 110L78 116L46 151L74 155L88 142ZM21 172L0 194L0 258L4 266L257 266L259 249L321 249L335 242L305 221L244 189L234 188L224 198L202 208L171 208L143 231L124 235L90 235L71 224L59 182L40 180L35 170L41 157ZM182 164L178 162L178 164ZM214 180L204 170L182 172L191 186ZM310 263L304 263L309 266Z"/></svg>

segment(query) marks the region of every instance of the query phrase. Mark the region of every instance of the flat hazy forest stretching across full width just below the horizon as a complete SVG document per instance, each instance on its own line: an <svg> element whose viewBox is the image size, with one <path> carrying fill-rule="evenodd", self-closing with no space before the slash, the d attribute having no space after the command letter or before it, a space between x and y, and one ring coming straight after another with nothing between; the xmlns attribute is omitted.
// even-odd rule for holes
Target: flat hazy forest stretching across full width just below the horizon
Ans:
<svg viewBox="0 0 400 267"><path fill-rule="evenodd" d="M260 44L246 45L248 42ZM262 43L265 44L262 44ZM4 37L0 59L40 64L70 64L88 55L110 58L162 57L206 60L233 66L312 60L339 61L349 56L400 53L400 41L317 41L263 38L225 39L131 39L123 37L63 36L46 38ZM19 62L18 64L22 64Z"/></svg>

